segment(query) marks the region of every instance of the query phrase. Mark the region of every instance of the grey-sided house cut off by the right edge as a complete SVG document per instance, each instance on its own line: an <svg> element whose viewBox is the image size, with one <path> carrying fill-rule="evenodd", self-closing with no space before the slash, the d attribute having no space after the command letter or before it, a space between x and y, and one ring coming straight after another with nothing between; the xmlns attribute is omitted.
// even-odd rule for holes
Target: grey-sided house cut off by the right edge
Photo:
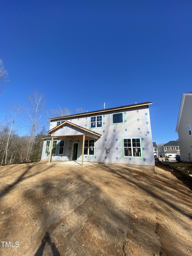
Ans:
<svg viewBox="0 0 192 256"><path fill-rule="evenodd" d="M192 161L192 92L183 93L176 125L181 160Z"/></svg>

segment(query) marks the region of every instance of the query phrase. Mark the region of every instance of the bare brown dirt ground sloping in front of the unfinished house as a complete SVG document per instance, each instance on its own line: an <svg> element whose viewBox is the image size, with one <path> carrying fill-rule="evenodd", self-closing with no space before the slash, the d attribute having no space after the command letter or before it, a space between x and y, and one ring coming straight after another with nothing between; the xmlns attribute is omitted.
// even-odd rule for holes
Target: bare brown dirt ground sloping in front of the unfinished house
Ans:
<svg viewBox="0 0 192 256"><path fill-rule="evenodd" d="M1 166L0 255L191 256L192 191L162 168Z"/></svg>

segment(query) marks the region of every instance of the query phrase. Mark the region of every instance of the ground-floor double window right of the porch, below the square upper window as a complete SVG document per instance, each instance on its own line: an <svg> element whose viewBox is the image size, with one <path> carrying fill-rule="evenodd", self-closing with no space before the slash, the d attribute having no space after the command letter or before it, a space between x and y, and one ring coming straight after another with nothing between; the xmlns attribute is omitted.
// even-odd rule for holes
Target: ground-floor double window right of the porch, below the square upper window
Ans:
<svg viewBox="0 0 192 256"><path fill-rule="evenodd" d="M141 142L140 138L123 139L124 156L141 157Z"/></svg>

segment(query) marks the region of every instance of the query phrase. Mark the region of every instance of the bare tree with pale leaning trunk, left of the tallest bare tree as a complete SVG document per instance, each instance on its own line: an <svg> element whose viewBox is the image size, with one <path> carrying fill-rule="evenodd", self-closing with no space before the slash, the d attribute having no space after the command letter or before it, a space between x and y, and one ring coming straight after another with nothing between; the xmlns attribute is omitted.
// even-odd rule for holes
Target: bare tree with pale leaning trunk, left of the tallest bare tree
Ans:
<svg viewBox="0 0 192 256"><path fill-rule="evenodd" d="M18 124L15 123L16 119L19 116L19 113L21 112L21 105L17 104L17 105L13 105L11 108L8 109L7 113L8 115L5 117L5 122L6 127L7 127L7 136L4 137L4 139L6 138L6 140L4 140L5 142L5 147L4 147L4 154L2 157L2 161L1 164L4 163L7 164L7 155L8 155L8 149L10 147L10 143L15 135L16 129L18 127Z"/></svg>

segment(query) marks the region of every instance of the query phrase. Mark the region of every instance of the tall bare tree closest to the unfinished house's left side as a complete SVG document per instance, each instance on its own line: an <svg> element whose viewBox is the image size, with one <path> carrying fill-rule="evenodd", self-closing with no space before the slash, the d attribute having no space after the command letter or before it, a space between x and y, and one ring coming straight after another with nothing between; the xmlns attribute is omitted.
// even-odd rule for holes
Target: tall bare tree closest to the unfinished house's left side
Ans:
<svg viewBox="0 0 192 256"><path fill-rule="evenodd" d="M30 121L30 139L27 148L26 162L29 162L35 139L35 133L40 129L41 117L44 114L45 104L42 103L42 99L43 95L39 95L38 92L35 92L33 95L29 96L31 109L27 111L27 117Z"/></svg>

